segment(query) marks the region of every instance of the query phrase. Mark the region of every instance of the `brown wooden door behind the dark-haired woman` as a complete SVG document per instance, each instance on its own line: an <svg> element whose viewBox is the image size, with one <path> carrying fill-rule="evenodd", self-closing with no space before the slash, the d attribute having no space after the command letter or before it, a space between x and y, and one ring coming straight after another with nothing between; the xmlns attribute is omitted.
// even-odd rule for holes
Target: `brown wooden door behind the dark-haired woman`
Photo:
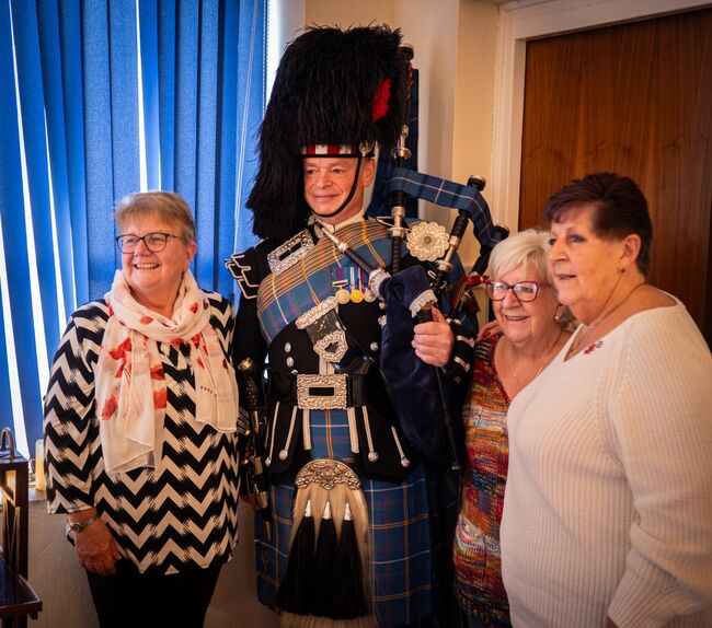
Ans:
<svg viewBox="0 0 712 628"><path fill-rule="evenodd" d="M712 9L527 44L519 229L589 172L633 178L654 226L651 283L712 345Z"/></svg>

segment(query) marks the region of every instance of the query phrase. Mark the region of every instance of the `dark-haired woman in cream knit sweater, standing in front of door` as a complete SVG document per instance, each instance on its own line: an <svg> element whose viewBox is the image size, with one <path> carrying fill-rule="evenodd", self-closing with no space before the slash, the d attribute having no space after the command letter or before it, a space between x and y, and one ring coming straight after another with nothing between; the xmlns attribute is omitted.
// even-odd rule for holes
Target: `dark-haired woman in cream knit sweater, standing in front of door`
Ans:
<svg viewBox="0 0 712 628"><path fill-rule="evenodd" d="M633 181L573 181L544 219L559 299L582 325L509 407L513 624L712 626L710 350L646 280L653 226Z"/></svg>

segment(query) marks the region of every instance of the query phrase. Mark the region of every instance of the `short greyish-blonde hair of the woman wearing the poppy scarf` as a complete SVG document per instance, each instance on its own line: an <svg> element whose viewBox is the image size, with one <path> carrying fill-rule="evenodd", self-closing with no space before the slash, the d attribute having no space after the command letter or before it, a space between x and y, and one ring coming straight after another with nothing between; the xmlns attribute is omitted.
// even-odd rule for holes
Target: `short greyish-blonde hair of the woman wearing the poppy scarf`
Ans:
<svg viewBox="0 0 712 628"><path fill-rule="evenodd" d="M158 216L175 224L186 243L195 242L195 221L185 199L174 191L137 191L116 205L114 220L118 229L146 216Z"/></svg>

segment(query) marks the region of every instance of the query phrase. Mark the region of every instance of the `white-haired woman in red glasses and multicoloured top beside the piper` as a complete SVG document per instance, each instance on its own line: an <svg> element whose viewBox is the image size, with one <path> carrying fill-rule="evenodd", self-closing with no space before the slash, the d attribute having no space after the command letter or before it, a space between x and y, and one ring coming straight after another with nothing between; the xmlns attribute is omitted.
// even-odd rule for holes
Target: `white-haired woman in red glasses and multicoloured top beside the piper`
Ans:
<svg viewBox="0 0 712 628"><path fill-rule="evenodd" d="M548 239L535 230L516 233L490 258L486 289L501 333L475 347L462 409L468 464L453 548L457 593L470 628L510 625L499 561L507 408L570 336L547 265Z"/></svg>

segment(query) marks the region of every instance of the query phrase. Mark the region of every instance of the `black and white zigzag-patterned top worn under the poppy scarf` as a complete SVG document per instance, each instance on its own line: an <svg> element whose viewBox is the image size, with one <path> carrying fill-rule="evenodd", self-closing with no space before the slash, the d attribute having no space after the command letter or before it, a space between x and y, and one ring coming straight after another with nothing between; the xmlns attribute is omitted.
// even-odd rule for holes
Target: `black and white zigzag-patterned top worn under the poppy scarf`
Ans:
<svg viewBox="0 0 712 628"><path fill-rule="evenodd" d="M232 305L207 292L210 324L230 356ZM168 407L159 470L108 475L94 408L94 369L108 319L106 303L83 305L69 321L45 397L47 509L95 507L118 547L141 572L175 573L229 558L238 538L237 433L188 420L195 416L186 353L159 342Z"/></svg>

